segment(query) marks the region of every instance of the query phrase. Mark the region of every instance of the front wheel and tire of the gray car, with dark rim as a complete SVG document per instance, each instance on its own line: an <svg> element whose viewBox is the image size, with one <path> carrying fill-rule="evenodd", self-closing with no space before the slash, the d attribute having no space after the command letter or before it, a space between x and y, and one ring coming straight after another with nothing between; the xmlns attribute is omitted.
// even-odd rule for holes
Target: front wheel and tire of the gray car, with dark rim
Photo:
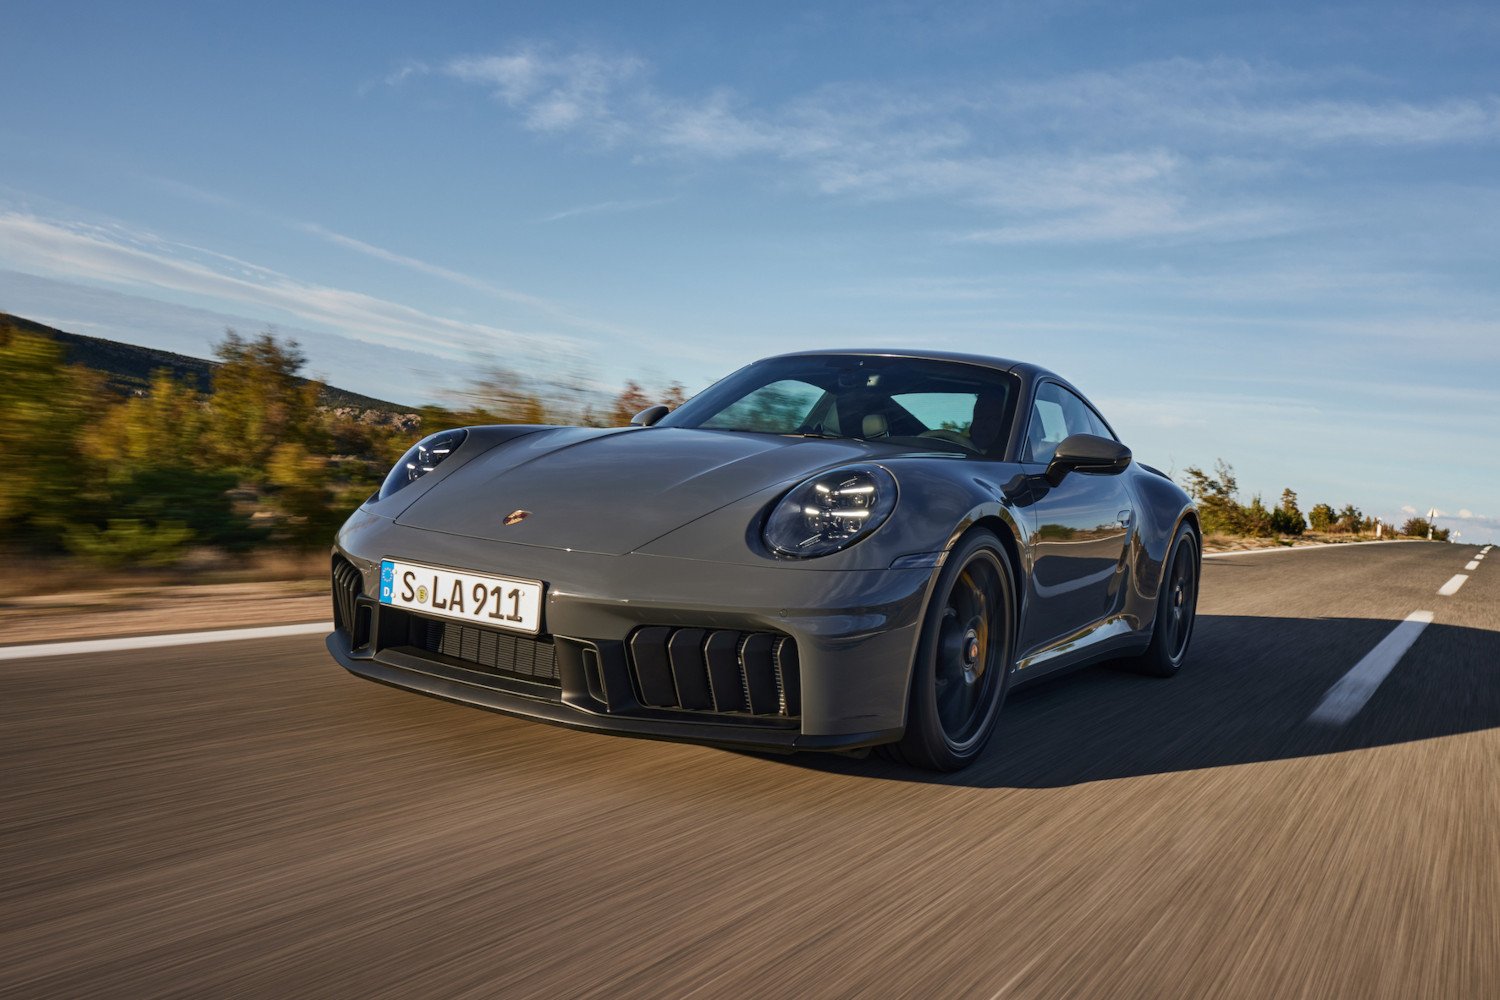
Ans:
<svg viewBox="0 0 1500 1000"><path fill-rule="evenodd" d="M960 771L980 757L1010 685L1014 594L1016 573L992 532L954 547L922 621L906 733L886 757L928 771Z"/></svg>

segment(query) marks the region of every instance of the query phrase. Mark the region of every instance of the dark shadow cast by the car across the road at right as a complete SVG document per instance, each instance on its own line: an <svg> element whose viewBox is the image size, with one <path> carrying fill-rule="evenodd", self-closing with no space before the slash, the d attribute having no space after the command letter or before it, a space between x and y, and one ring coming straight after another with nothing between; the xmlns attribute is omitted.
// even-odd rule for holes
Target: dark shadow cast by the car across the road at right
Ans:
<svg viewBox="0 0 1500 1000"><path fill-rule="evenodd" d="M850 777L1050 789L1382 747L1500 726L1500 631L1430 625L1353 720L1308 721L1328 688L1398 622L1198 618L1172 679L1102 664L1017 690L984 756L952 775L796 754Z"/></svg>

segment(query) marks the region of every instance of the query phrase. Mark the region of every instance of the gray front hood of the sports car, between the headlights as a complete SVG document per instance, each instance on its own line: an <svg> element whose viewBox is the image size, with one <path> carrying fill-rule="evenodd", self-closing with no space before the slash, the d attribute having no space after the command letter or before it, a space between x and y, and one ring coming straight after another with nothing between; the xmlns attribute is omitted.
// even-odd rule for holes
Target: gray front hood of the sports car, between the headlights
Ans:
<svg viewBox="0 0 1500 1000"><path fill-rule="evenodd" d="M396 520L624 555L752 493L894 451L864 441L686 427L546 430L466 462ZM513 511L526 516L507 526Z"/></svg>

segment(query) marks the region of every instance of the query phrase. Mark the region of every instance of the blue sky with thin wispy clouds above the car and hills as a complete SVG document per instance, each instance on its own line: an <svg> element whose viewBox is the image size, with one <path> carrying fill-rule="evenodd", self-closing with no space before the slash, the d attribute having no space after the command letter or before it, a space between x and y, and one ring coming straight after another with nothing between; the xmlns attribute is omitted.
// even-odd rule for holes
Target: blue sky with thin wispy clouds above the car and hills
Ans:
<svg viewBox="0 0 1500 1000"><path fill-rule="evenodd" d="M1046 364L1137 457L1500 535L1500 7L10 0L0 310L696 391Z"/></svg>

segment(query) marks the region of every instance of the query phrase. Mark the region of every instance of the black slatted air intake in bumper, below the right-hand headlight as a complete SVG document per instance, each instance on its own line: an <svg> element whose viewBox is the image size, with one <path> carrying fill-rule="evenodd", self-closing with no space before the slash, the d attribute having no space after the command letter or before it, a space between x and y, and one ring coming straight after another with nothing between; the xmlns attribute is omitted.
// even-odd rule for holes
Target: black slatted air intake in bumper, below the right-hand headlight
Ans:
<svg viewBox="0 0 1500 1000"><path fill-rule="evenodd" d="M627 643L636 697L718 715L802 715L796 640L723 628L638 628Z"/></svg>

